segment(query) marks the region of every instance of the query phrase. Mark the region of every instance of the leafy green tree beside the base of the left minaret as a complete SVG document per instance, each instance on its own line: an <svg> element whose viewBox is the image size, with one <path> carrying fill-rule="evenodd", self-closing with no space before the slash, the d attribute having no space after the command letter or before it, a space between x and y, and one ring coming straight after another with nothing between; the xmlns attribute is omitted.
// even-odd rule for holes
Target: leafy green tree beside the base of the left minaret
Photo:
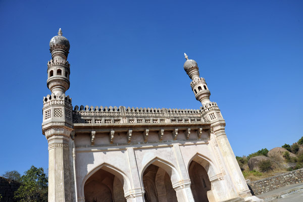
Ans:
<svg viewBox="0 0 303 202"><path fill-rule="evenodd" d="M15 192L15 198L21 202L47 202L47 181L43 168L32 166L21 177L21 186Z"/></svg>

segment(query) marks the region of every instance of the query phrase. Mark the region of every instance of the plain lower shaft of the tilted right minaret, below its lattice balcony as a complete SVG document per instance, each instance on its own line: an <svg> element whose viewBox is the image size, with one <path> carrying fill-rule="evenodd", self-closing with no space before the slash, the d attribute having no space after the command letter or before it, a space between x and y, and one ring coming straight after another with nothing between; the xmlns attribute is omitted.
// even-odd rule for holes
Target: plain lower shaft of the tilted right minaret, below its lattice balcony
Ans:
<svg viewBox="0 0 303 202"><path fill-rule="evenodd" d="M237 193L242 198L251 196L250 190L247 187L246 181L227 139L225 133L225 121L217 121L212 123L211 133L213 133L216 137L218 148L222 154L222 159L228 170L227 172L229 172L229 176L235 185Z"/></svg>

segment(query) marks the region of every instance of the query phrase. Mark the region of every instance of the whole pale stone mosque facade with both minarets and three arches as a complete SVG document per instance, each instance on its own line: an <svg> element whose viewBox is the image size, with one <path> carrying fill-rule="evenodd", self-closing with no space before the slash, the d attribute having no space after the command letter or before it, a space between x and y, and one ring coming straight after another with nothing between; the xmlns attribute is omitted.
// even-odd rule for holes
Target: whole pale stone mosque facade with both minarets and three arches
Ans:
<svg viewBox="0 0 303 202"><path fill-rule="evenodd" d="M48 201L262 201L252 196L225 121L194 60L184 70L200 109L72 106L70 44L49 42L42 132L48 142Z"/></svg>

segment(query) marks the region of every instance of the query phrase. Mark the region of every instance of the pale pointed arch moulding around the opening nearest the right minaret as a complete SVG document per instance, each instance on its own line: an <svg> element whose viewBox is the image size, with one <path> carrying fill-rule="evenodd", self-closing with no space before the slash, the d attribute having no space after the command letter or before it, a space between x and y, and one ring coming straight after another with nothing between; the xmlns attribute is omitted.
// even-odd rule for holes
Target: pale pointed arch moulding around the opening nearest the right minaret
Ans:
<svg viewBox="0 0 303 202"><path fill-rule="evenodd" d="M203 168L206 170L207 174L209 177L212 177L212 176L215 176L217 175L219 172L218 172L218 169L216 169L214 163L209 159L207 158L206 156L204 155L201 155L199 153L196 153L188 162L187 164L187 171L189 172L189 165L190 163L194 161L198 164L200 164L201 166L203 166Z"/></svg>

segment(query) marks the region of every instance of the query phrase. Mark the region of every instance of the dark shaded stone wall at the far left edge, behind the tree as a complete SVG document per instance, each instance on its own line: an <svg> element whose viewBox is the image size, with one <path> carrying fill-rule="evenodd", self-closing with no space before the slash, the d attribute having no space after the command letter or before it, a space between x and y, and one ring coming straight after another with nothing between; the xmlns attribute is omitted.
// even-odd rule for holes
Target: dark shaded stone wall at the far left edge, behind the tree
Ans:
<svg viewBox="0 0 303 202"><path fill-rule="evenodd" d="M15 202L14 192L19 188L20 183L0 176L1 202Z"/></svg>

